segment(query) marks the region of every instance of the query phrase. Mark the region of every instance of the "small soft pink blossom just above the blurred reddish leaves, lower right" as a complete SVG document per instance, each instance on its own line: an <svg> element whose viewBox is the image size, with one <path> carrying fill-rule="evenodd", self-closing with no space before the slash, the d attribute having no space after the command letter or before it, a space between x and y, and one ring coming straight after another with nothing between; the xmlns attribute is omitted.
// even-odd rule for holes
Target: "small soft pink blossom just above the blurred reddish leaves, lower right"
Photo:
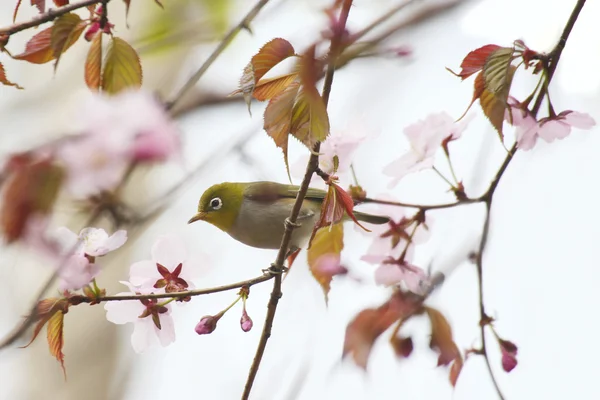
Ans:
<svg viewBox="0 0 600 400"><path fill-rule="evenodd" d="M384 262L375 270L375 283L382 286L403 284L404 287L416 294L423 294L429 282L429 277L421 268L407 262Z"/></svg>

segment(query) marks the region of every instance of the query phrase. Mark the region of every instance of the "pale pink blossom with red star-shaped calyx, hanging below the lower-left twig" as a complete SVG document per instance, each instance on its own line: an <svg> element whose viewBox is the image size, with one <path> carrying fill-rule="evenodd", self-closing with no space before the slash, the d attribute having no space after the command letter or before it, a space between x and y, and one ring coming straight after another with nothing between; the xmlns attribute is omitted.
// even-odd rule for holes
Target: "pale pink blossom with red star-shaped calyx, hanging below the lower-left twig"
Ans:
<svg viewBox="0 0 600 400"><path fill-rule="evenodd" d="M131 294L149 294L144 288L136 288L129 282L121 282L129 287L129 292L118 293L117 296ZM124 300L109 301L104 305L106 319L115 324L133 323L131 345L136 353L142 353L152 345L163 347L175 341L175 326L171 316L171 306L162 305L161 300Z"/></svg>

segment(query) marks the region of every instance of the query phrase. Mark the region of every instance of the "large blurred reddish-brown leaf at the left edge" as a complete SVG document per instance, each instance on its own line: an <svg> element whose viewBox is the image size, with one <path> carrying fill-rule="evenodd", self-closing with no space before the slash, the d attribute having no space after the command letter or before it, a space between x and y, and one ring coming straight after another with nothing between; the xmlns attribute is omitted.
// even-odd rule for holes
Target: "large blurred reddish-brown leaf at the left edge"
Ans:
<svg viewBox="0 0 600 400"><path fill-rule="evenodd" d="M51 160L36 160L27 154L13 156L5 172L0 226L11 243L24 234L30 217L50 212L64 174Z"/></svg>

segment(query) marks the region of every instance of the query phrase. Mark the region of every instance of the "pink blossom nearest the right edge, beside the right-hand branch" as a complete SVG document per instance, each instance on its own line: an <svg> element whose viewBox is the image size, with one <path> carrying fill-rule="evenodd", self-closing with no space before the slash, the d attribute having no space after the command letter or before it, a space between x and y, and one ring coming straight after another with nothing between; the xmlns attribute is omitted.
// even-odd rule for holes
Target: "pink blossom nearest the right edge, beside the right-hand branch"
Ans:
<svg viewBox="0 0 600 400"><path fill-rule="evenodd" d="M570 110L536 121L531 112L515 98L510 97L508 104L510 109L506 111L506 120L516 127L515 137L520 150L531 150L538 138L551 143L569 136L572 127L590 129L596 125L589 114Z"/></svg>

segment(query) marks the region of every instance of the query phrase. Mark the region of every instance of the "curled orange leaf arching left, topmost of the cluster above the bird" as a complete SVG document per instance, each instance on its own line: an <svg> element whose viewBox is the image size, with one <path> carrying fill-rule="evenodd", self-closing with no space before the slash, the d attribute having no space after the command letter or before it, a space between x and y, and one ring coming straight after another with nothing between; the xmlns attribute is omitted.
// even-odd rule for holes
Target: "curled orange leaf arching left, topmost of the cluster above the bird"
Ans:
<svg viewBox="0 0 600 400"><path fill-rule="evenodd" d="M275 38L266 43L246 65L240 78L239 89L231 94L242 93L250 111L250 98L260 78L281 61L293 55L295 55L294 47L285 39Z"/></svg>

